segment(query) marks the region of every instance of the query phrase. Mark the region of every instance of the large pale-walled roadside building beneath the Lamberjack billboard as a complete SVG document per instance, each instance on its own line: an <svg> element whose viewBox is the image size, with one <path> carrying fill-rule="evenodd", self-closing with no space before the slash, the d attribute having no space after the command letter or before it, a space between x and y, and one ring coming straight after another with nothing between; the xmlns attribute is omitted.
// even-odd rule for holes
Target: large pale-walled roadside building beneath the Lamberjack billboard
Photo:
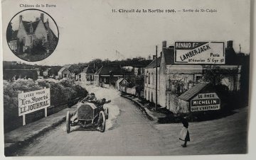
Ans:
<svg viewBox="0 0 256 160"><path fill-rule="evenodd" d="M193 86L200 85L208 72L217 72L221 78L221 84L228 88L228 91L239 91L241 66L235 64L234 60L227 60L228 57L235 59L232 45L233 42L228 41L225 48L226 64L176 64L174 46L166 47L166 41L164 41L161 56L157 58L157 103L174 113L188 113L188 108L181 110L178 97ZM144 98L156 102L156 59L145 68L144 72Z"/></svg>

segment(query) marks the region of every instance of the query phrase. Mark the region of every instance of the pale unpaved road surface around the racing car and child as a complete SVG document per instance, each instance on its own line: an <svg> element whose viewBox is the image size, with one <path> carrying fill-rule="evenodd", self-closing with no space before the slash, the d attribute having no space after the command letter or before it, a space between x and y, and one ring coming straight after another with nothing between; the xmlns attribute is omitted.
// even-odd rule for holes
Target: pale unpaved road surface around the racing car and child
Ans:
<svg viewBox="0 0 256 160"><path fill-rule="evenodd" d="M89 86L88 86L89 87ZM89 87L90 88L90 87ZM247 108L218 120L191 122L191 142L181 147L181 124L156 124L114 89L90 88L97 97L112 99L110 120L104 133L72 127L65 123L38 137L20 149L18 156L90 156L90 155L183 155L242 154L247 147Z"/></svg>

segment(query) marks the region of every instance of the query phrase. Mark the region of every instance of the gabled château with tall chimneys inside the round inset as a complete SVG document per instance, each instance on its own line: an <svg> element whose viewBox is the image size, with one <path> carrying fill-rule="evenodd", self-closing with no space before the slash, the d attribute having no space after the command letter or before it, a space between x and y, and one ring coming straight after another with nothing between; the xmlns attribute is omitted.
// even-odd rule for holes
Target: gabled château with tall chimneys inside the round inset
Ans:
<svg viewBox="0 0 256 160"><path fill-rule="evenodd" d="M23 21L22 15L19 16L18 30L12 30L9 25L8 43L11 50L17 53L31 50L33 45L42 40L43 45L47 46L46 50L50 52L57 45L58 38L50 29L48 19L44 21L44 14L41 13L40 18L35 21Z"/></svg>

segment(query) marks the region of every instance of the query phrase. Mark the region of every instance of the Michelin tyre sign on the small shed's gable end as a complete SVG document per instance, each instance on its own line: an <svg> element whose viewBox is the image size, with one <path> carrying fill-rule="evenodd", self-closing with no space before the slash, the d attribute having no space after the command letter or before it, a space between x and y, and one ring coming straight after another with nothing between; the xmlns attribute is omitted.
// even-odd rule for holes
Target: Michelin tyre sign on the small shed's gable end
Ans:
<svg viewBox="0 0 256 160"><path fill-rule="evenodd" d="M220 110L220 98L216 93L199 93L191 100L191 112Z"/></svg>

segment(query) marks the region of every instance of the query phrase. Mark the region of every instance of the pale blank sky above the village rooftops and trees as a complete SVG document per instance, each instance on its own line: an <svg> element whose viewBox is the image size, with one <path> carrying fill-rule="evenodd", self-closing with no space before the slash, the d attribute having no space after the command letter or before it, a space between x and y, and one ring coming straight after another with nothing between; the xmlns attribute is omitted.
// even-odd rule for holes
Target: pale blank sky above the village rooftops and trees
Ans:
<svg viewBox="0 0 256 160"><path fill-rule="evenodd" d="M23 1L34 4L35 1ZM4 60L25 62L16 57L6 42L6 27L11 18L26 8L22 1L4 1ZM250 52L250 1L245 0L97 0L43 1L55 8L38 8L53 17L59 29L55 51L40 62L28 64L63 65L89 62L92 59L117 59L116 50L124 58L148 57L155 54L161 42L233 40L233 47ZM40 4L40 3L39 3ZM14 7L6 7L14 6ZM176 13L112 13L112 9L175 9ZM216 9L216 13L188 13L183 9ZM180 12L178 12L180 11Z"/></svg>

